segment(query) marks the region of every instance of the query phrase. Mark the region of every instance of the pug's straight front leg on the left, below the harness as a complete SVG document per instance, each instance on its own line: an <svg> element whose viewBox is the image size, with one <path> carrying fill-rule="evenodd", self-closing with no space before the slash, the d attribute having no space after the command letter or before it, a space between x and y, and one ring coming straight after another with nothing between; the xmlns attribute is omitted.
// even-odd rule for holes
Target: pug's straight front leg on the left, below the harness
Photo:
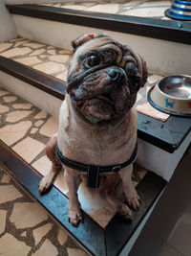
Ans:
<svg viewBox="0 0 191 256"><path fill-rule="evenodd" d="M68 219L77 227L80 221L83 221L83 215L80 210L80 203L77 198L77 190L81 183L80 175L73 169L66 168L66 182L69 188L69 210Z"/></svg>

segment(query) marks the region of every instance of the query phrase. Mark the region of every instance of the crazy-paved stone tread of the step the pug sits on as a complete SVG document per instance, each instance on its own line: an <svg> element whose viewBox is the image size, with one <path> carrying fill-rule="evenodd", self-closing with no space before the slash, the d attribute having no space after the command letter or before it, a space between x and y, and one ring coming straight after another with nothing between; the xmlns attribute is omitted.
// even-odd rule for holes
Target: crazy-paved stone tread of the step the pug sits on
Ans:
<svg viewBox="0 0 191 256"><path fill-rule="evenodd" d="M45 145L57 131L57 119L10 92L0 89L0 121L1 140L41 175L46 175L51 168L51 162L46 156ZM147 170L135 166L135 186L146 173ZM54 185L68 196L64 172L57 175ZM96 190L90 190L84 184L79 186L78 197L82 209L103 228L117 212L116 208L100 198Z"/></svg>

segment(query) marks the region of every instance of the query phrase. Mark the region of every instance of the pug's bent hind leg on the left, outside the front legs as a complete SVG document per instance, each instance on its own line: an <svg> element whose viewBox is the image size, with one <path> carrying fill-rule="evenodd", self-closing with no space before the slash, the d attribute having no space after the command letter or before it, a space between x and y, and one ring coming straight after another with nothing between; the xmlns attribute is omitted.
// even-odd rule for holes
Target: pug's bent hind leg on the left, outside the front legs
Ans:
<svg viewBox="0 0 191 256"><path fill-rule="evenodd" d="M45 175L40 181L40 184L38 186L39 193L44 193L51 187L55 176L62 169L62 164L59 162L56 156L56 151L55 151L56 141L57 141L57 133L53 134L53 136L51 137L51 139L46 145L46 154L49 157L49 159L52 161L52 168L49 171L49 173Z"/></svg>

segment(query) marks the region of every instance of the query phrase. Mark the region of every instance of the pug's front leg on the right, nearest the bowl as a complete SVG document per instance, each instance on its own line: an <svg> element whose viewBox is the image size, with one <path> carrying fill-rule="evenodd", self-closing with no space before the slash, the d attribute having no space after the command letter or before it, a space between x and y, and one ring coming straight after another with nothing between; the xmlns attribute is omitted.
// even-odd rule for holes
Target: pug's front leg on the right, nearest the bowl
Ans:
<svg viewBox="0 0 191 256"><path fill-rule="evenodd" d="M122 179L123 192L125 194L125 198L127 199L129 205L131 205L135 210L139 208L139 197L138 193L132 182L132 172L133 172L133 164L122 169L118 174Z"/></svg>

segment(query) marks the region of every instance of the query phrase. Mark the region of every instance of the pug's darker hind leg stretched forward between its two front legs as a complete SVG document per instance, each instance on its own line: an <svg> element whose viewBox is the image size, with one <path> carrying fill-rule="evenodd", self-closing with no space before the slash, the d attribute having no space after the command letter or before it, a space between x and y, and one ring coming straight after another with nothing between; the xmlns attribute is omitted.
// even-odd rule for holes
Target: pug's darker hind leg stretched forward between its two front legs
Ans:
<svg viewBox="0 0 191 256"><path fill-rule="evenodd" d="M128 205L116 197L116 189L119 183L121 183L121 178L118 174L107 175L106 179L100 184L99 194L102 198L105 198L109 204L117 208L117 212L121 216L131 220L133 215Z"/></svg>

